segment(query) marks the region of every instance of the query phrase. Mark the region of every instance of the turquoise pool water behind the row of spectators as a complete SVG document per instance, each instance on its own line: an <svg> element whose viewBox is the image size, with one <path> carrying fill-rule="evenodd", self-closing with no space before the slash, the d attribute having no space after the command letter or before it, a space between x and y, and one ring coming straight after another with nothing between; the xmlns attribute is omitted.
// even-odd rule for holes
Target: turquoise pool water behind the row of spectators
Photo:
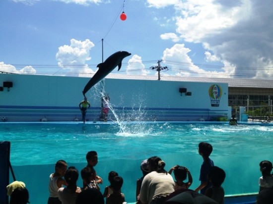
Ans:
<svg viewBox="0 0 273 204"><path fill-rule="evenodd" d="M10 141L10 161L17 180L24 181L32 204L46 203L48 177L54 164L64 159L79 171L86 166L88 151L98 153L95 166L103 178L101 191L109 185L108 173L117 171L124 178L122 188L128 203L135 202L136 180L141 176L142 159L157 155L166 170L179 164L193 175L191 189L199 184L198 154L202 141L213 146L211 159L226 172L226 195L259 190L261 160L273 161L273 126L229 126L228 123L131 122L123 123L0 123L0 141ZM10 181L12 178L10 177ZM82 180L78 180L78 186Z"/></svg>

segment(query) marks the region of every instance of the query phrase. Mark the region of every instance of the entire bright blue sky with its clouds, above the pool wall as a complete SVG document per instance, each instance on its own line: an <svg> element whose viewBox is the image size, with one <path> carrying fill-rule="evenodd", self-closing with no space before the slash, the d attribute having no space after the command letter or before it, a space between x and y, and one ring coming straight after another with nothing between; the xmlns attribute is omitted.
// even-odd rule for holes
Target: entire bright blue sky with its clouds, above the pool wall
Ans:
<svg viewBox="0 0 273 204"><path fill-rule="evenodd" d="M124 5L124 8L123 8ZM78 76L116 51L113 74L272 77L273 1L1 0L0 71ZM127 19L122 21L122 11Z"/></svg>

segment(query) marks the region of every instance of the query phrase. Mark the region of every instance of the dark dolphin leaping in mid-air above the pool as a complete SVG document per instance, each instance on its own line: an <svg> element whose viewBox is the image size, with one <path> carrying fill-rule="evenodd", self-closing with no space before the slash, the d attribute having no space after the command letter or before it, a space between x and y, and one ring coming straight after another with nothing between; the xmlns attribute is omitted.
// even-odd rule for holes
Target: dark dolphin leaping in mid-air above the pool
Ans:
<svg viewBox="0 0 273 204"><path fill-rule="evenodd" d="M119 66L119 71L121 68L122 60L130 55L131 53L129 53L128 51L117 51L109 56L103 63L99 63L97 65L97 67L99 67L98 71L89 80L89 82L85 85L82 91L84 98L86 98L86 92L88 92L88 90L91 89L91 87L98 83L100 80L106 77L107 74L109 74L116 66Z"/></svg>

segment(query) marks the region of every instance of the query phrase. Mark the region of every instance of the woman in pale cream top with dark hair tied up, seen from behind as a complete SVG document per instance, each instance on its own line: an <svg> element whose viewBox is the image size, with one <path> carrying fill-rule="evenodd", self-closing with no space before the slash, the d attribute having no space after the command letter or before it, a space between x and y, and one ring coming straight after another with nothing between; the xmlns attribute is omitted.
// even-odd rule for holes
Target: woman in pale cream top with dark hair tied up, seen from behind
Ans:
<svg viewBox="0 0 273 204"><path fill-rule="evenodd" d="M142 181L139 200L143 204L163 204L174 192L173 177L164 169L165 162L158 156L148 158L147 167L149 173Z"/></svg>

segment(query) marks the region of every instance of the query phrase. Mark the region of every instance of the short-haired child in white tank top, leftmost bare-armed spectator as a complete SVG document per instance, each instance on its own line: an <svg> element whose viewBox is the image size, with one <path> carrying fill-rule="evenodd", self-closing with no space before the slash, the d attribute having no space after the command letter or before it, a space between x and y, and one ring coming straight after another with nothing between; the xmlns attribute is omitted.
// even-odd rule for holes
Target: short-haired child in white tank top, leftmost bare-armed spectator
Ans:
<svg viewBox="0 0 273 204"><path fill-rule="evenodd" d="M59 160L55 164L55 173L50 174L49 176L49 198L48 204L62 204L62 202L58 198L58 190L63 187L63 185L67 186L67 182L63 179L66 170L68 168L68 164L64 160Z"/></svg>

